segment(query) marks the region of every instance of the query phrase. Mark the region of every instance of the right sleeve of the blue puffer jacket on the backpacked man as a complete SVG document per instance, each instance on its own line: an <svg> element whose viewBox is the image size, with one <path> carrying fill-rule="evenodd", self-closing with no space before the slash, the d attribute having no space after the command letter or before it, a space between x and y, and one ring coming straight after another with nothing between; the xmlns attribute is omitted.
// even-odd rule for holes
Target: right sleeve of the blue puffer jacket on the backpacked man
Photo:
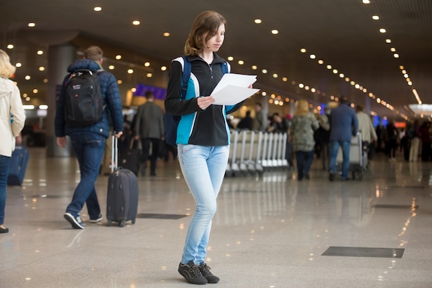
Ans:
<svg viewBox="0 0 432 288"><path fill-rule="evenodd" d="M117 85L117 79L111 73L108 75L106 104L110 110L112 128L115 132L123 131L123 112L121 111L119 86Z"/></svg>

